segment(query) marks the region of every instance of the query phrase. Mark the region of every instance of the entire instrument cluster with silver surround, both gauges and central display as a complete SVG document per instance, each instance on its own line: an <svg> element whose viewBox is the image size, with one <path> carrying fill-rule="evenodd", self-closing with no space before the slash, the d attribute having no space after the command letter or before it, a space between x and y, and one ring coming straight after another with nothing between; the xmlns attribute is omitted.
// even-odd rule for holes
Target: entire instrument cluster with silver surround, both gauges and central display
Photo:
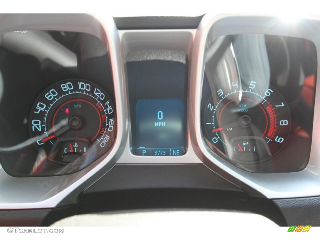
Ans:
<svg viewBox="0 0 320 240"><path fill-rule="evenodd" d="M318 194L295 185L320 171L318 21L205 15L192 29L120 30L95 15L23 18L0 26L0 186L48 181L28 201L52 207L116 164L200 164L252 196Z"/></svg>

